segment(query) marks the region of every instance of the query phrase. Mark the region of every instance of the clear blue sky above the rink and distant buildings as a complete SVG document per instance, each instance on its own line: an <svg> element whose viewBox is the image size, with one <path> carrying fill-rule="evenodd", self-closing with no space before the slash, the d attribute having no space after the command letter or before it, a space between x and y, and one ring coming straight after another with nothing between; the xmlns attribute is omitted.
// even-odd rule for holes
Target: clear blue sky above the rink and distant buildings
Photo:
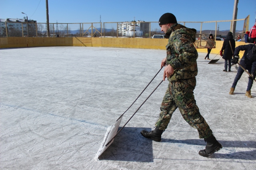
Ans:
<svg viewBox="0 0 256 170"><path fill-rule="evenodd" d="M100 15L102 23L132 21L134 17L158 21L166 12L174 14L178 21L219 21L232 20L234 0L48 0L48 6L50 23L100 22ZM28 19L45 23L46 1L1 0L1 19L26 16L21 12ZM249 29L254 25L255 14L256 0L239 0L237 19L250 15ZM215 29L215 23L203 29ZM230 29L230 23L220 26L220 30L225 29Z"/></svg>

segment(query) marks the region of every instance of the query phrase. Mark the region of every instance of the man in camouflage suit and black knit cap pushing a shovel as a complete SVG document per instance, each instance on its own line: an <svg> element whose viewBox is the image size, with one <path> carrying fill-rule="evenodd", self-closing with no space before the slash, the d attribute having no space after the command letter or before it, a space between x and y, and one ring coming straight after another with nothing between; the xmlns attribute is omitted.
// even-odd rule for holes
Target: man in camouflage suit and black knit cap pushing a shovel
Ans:
<svg viewBox="0 0 256 170"><path fill-rule="evenodd" d="M141 134L154 141L160 142L161 135L167 128L172 113L179 108L182 117L188 124L198 130L199 138L207 142L206 149L200 150L201 156L209 157L220 150L222 145L212 134L212 130L199 112L194 99L196 75L198 72L196 59L198 53L193 45L196 40L196 29L190 29L177 23L171 13L163 14L159 19L161 31L169 38L166 45L167 57L162 60L164 78L169 81L162 105L160 116L156 121L154 131L141 131Z"/></svg>

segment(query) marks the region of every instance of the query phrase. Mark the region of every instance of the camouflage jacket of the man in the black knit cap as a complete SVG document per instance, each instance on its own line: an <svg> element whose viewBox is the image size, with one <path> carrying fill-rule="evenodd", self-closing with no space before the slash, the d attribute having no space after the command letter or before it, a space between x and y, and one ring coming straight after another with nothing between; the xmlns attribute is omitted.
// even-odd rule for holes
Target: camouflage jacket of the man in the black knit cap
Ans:
<svg viewBox="0 0 256 170"><path fill-rule="evenodd" d="M193 44L196 41L196 29L175 23L168 29L166 37L169 37L166 45L166 64L170 64L174 69L174 74L168 81L194 78L198 72L198 53Z"/></svg>

